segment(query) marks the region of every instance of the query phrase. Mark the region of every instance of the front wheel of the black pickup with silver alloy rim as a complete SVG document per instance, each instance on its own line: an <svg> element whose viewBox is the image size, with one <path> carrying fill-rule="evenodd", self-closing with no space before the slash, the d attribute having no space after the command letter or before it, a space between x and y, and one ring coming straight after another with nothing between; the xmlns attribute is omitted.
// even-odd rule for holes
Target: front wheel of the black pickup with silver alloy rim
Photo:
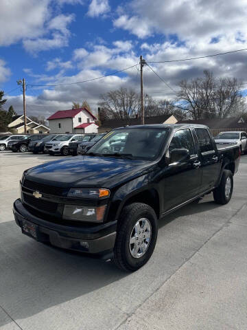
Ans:
<svg viewBox="0 0 247 330"><path fill-rule="evenodd" d="M113 261L126 272L134 272L148 262L158 234L154 210L144 203L125 206L119 219Z"/></svg>

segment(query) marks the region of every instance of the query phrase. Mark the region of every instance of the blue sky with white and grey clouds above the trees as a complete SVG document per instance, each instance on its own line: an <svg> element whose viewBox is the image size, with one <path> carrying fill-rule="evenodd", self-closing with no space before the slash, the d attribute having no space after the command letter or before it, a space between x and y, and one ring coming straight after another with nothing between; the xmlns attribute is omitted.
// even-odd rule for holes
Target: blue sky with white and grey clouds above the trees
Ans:
<svg viewBox="0 0 247 330"><path fill-rule="evenodd" d="M50 115L119 87L139 91L139 56L170 61L247 48L247 0L1 0L0 89L22 109L16 80L27 80L27 115ZM184 78L235 76L247 88L247 52L177 63L151 64L178 89ZM67 86L113 73L121 74ZM144 68L145 93L174 93ZM243 86L245 89L245 86Z"/></svg>

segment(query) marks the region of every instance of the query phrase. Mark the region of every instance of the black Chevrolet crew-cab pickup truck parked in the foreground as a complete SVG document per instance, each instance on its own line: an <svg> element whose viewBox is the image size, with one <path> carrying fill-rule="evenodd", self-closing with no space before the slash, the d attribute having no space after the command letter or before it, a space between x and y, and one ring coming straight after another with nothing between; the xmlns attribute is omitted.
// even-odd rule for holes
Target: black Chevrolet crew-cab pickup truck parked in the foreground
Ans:
<svg viewBox="0 0 247 330"><path fill-rule="evenodd" d="M113 153L109 141L123 133ZM239 158L239 146L217 148L203 125L115 129L86 155L25 170L16 224L37 241L134 271L154 251L159 218L209 192L228 203Z"/></svg>

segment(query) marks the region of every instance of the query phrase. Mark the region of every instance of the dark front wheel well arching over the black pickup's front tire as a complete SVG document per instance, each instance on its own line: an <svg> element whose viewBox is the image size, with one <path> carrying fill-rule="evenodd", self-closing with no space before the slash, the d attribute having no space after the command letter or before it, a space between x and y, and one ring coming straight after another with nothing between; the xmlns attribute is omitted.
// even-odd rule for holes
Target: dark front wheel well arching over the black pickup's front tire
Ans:
<svg viewBox="0 0 247 330"><path fill-rule="evenodd" d="M124 206L127 206L131 203L145 203L153 208L154 212L156 213L156 217L159 218L160 214L160 203L158 192L156 189L152 188L149 190L143 190L139 192L137 195L130 197Z"/></svg>

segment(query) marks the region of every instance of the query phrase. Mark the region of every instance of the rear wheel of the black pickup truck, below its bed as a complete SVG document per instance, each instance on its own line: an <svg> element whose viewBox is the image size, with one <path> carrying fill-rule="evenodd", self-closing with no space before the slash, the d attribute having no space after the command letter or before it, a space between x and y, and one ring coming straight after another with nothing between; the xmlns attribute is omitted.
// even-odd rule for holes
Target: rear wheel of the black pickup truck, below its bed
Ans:
<svg viewBox="0 0 247 330"><path fill-rule="evenodd" d="M233 194L233 173L224 170L220 185L213 190L213 198L218 204L227 204Z"/></svg>

